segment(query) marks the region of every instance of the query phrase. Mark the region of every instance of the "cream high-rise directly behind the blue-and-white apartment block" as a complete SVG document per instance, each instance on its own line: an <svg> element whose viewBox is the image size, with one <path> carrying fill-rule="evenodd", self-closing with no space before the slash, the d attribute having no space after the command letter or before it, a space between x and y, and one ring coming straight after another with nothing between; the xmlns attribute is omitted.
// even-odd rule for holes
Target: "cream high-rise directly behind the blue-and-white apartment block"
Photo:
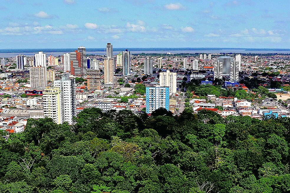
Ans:
<svg viewBox="0 0 290 193"><path fill-rule="evenodd" d="M159 84L160 86L169 86L169 94L172 95L176 93L176 79L177 74L175 72L170 72L166 70L166 72L159 73Z"/></svg>

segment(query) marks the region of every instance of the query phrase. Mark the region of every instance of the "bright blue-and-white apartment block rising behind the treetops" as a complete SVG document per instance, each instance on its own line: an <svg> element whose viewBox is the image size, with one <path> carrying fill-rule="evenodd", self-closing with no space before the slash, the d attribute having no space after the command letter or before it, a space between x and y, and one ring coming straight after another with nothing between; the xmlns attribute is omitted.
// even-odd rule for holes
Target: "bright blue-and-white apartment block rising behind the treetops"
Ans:
<svg viewBox="0 0 290 193"><path fill-rule="evenodd" d="M146 113L159 108L169 111L169 87L146 87Z"/></svg>

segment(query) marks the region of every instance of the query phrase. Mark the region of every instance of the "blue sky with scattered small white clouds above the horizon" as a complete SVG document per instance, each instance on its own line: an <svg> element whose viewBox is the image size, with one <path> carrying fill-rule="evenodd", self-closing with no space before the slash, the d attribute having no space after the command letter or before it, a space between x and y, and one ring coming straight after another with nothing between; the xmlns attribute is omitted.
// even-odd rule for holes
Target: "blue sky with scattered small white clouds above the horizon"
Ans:
<svg viewBox="0 0 290 193"><path fill-rule="evenodd" d="M1 0L0 48L290 48L282 0Z"/></svg>

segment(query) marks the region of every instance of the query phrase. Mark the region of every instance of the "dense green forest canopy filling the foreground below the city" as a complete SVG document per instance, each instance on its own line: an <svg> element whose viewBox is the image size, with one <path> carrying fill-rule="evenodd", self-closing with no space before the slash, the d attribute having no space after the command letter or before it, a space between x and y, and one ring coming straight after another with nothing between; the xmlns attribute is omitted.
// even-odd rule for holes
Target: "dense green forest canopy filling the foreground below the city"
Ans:
<svg viewBox="0 0 290 193"><path fill-rule="evenodd" d="M289 192L289 137L289 118L206 110L89 108L72 126L29 119L0 139L0 192Z"/></svg>

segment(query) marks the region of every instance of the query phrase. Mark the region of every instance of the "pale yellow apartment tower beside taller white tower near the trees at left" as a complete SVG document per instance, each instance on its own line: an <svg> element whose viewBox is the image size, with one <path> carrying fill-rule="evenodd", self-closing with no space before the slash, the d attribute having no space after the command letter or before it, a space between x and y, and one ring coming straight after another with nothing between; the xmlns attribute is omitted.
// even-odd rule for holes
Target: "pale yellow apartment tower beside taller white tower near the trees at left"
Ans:
<svg viewBox="0 0 290 193"><path fill-rule="evenodd" d="M47 88L42 92L43 114L57 124L63 123L61 90L59 87Z"/></svg>

